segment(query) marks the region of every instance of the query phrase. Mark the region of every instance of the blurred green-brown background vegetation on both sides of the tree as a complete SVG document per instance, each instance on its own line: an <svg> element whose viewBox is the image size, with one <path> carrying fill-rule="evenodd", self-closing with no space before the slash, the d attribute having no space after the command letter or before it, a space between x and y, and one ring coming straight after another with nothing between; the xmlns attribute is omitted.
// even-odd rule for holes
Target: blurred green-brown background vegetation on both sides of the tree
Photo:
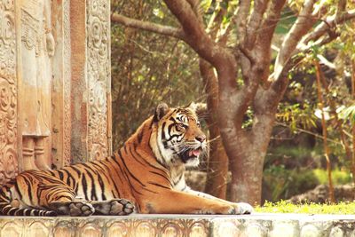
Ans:
<svg viewBox="0 0 355 237"><path fill-rule="evenodd" d="M293 9L297 3L288 2L282 14L273 39L276 47L296 20ZM140 20L175 24L161 1L113 1L112 11ZM355 24L344 24L338 30L339 37L334 42L313 49L320 64L335 186L352 182L355 144ZM112 24L111 42L115 149L152 115L160 101L173 107L206 101L198 56L185 43L117 24ZM288 199L328 182L313 61L314 55L304 59L289 75L291 81L280 103L264 162L263 200ZM250 119L246 116L246 126Z"/></svg>

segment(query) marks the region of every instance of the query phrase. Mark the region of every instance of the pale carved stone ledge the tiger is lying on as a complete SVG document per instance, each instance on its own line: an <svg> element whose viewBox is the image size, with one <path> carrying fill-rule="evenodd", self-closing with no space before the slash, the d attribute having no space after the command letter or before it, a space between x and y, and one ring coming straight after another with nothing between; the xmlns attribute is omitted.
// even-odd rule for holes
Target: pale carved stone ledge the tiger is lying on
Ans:
<svg viewBox="0 0 355 237"><path fill-rule="evenodd" d="M0 236L355 237L355 215L0 217Z"/></svg>

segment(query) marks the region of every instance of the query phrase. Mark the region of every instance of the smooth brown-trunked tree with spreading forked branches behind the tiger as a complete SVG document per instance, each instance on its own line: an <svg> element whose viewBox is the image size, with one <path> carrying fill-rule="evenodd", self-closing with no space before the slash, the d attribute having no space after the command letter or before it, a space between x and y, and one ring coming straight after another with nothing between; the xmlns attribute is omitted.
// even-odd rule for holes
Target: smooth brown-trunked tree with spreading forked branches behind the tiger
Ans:
<svg viewBox="0 0 355 237"><path fill-rule="evenodd" d="M217 89L216 107L209 105L209 111L229 158L232 201L260 203L264 156L288 73L312 49L338 36L338 26L355 18L349 10L353 6L344 0L164 0L162 12L165 6L177 21L135 20L118 13L112 21L175 37L197 52L202 75L205 68L205 78ZM289 11L296 20L284 37L274 37ZM247 114L252 122L244 126Z"/></svg>

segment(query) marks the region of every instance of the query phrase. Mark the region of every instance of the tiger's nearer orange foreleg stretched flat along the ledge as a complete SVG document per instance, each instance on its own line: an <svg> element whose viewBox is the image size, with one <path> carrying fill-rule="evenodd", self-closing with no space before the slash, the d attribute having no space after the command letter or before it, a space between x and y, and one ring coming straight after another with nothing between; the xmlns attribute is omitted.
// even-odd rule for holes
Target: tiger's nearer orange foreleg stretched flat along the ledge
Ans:
<svg viewBox="0 0 355 237"><path fill-rule="evenodd" d="M141 213L166 214L241 214L228 203L209 200L193 194L171 189L161 190L158 194L144 196L139 201Z"/></svg>

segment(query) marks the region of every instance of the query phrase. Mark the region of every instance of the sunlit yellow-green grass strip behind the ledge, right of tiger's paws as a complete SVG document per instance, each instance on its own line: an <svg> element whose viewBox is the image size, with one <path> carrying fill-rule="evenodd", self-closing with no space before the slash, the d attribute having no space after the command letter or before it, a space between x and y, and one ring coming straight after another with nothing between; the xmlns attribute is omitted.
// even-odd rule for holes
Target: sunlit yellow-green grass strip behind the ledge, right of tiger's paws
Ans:
<svg viewBox="0 0 355 237"><path fill-rule="evenodd" d="M265 202L263 207L256 208L256 212L355 215L355 201L337 204L307 203L302 205L288 203L288 201Z"/></svg>

